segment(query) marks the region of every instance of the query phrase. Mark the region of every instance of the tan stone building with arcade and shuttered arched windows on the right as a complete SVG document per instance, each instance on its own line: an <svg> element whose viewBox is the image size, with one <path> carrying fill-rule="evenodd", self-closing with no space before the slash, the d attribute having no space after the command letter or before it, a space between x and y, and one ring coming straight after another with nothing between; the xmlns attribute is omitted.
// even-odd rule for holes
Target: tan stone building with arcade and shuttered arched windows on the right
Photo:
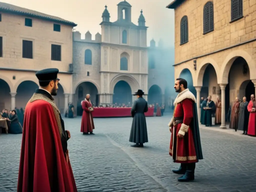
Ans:
<svg viewBox="0 0 256 192"><path fill-rule="evenodd" d="M175 78L190 71L198 108L200 95L221 98L225 129L235 97L255 93L256 1L175 0L167 8L175 10Z"/></svg>

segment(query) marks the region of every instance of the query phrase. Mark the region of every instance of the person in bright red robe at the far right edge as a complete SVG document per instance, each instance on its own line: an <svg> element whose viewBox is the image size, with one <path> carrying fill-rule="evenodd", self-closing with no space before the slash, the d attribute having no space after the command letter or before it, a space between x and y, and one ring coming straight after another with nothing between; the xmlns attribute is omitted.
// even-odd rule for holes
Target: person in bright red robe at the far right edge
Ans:
<svg viewBox="0 0 256 192"><path fill-rule="evenodd" d="M247 110L250 112L247 135L256 136L256 101L254 94L251 95Z"/></svg>

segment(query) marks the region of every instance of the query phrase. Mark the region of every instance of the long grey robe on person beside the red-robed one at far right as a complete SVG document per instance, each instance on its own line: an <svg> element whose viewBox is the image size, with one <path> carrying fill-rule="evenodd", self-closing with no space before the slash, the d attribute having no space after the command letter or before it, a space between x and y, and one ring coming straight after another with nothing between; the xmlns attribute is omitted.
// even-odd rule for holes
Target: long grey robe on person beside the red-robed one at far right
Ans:
<svg viewBox="0 0 256 192"><path fill-rule="evenodd" d="M249 121L249 112L247 110L249 102L241 102L239 106L239 117L238 117L238 130L247 131L248 121Z"/></svg>

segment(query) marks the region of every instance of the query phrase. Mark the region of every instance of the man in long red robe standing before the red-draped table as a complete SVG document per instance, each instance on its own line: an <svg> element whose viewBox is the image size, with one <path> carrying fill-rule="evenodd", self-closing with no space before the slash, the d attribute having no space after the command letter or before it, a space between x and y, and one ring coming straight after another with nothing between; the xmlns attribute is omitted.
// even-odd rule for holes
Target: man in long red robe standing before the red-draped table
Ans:
<svg viewBox="0 0 256 192"><path fill-rule="evenodd" d="M84 101L82 101L82 108L83 108L83 116L82 116L82 122L81 122L81 132L84 135L94 134L92 131L94 129L94 123L93 123L93 106L90 101L90 94L86 95L86 98Z"/></svg>

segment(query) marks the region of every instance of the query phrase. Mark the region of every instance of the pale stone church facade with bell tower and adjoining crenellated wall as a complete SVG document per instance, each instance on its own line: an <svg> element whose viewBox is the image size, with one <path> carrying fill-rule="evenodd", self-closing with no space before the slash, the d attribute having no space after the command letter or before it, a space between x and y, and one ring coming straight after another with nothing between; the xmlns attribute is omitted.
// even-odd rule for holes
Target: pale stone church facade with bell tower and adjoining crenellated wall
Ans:
<svg viewBox="0 0 256 192"><path fill-rule="evenodd" d="M131 22L132 6L122 1L118 19L110 22L107 6L102 14L101 34L88 31L85 39L73 32L73 93L74 105L91 94L96 105L132 103L138 89L147 99L147 27L140 13L138 25ZM126 95L126 96L124 96Z"/></svg>

